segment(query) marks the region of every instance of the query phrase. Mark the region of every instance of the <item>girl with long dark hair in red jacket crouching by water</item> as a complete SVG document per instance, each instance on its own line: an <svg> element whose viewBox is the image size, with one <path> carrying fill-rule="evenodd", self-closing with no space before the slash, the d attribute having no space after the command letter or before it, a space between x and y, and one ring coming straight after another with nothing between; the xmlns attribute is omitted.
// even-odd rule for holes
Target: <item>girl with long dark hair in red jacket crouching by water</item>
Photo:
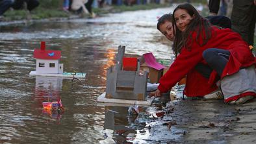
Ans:
<svg viewBox="0 0 256 144"><path fill-rule="evenodd" d="M176 60L160 78L156 96L187 75L188 97L211 93L217 81L225 102L242 104L256 97L256 61L239 34L211 26L190 4L177 6L173 20Z"/></svg>

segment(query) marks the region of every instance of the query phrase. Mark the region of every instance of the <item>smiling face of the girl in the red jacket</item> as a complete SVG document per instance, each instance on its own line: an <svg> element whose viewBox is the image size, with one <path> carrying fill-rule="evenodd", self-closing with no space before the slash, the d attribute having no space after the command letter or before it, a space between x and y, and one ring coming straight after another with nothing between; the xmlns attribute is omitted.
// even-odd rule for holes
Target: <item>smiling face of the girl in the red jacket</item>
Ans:
<svg viewBox="0 0 256 144"><path fill-rule="evenodd" d="M185 9L178 9L174 12L175 23L177 25L177 28L182 32L186 30L186 27L188 27L190 21L193 18L194 17L190 16Z"/></svg>

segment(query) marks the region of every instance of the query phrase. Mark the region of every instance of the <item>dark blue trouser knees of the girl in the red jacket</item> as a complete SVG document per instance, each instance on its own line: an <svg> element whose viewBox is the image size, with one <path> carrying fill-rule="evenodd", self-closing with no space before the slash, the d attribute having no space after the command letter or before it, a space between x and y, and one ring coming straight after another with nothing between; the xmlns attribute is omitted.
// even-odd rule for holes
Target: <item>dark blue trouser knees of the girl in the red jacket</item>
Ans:
<svg viewBox="0 0 256 144"><path fill-rule="evenodd" d="M222 72L229 60L230 53L224 49L206 49L203 51L203 59L207 62L208 65L205 64L197 64L196 70L203 75L203 77L209 78L212 69L214 69L219 76L222 75Z"/></svg>

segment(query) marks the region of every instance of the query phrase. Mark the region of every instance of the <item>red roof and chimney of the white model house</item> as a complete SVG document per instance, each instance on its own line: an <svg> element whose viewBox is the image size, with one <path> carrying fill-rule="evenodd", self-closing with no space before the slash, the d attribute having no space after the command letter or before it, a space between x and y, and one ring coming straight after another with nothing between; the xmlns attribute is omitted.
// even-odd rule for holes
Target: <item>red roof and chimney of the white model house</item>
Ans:
<svg viewBox="0 0 256 144"><path fill-rule="evenodd" d="M58 60L60 59L61 51L45 50L45 42L41 42L40 49L34 49L34 58L44 60Z"/></svg>

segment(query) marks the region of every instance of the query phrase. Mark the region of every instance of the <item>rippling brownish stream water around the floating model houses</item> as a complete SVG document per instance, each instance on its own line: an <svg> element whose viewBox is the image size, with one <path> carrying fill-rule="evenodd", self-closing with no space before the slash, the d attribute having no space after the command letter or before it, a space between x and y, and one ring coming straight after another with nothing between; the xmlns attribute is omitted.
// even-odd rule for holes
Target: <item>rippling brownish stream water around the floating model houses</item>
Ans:
<svg viewBox="0 0 256 144"><path fill-rule="evenodd" d="M141 108L137 117L127 107L99 106L106 69L114 64L118 45L127 54L153 52L170 60L170 43L156 29L157 18L173 8L108 14L95 19L39 21L0 26L1 143L155 143L182 136L168 130L153 114L159 107ZM29 77L35 70L33 50L62 51L64 71L84 72L86 79ZM42 102L62 100L64 111L42 109ZM170 121L172 117L164 121ZM161 134L159 135L159 132ZM174 134L175 133L175 134Z"/></svg>

